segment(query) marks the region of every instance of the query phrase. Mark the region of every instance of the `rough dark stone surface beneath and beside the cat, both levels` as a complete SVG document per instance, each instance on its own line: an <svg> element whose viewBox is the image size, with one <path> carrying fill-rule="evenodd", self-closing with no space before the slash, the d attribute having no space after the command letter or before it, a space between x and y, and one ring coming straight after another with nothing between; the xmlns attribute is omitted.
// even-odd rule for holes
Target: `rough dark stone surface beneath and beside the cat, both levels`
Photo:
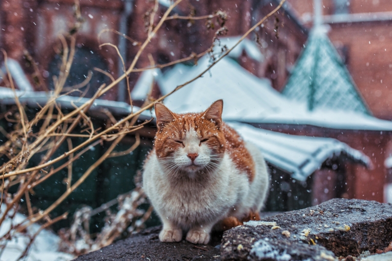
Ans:
<svg viewBox="0 0 392 261"><path fill-rule="evenodd" d="M226 231L223 238L222 234L214 234L206 246L185 240L162 243L158 239L160 230L161 227L146 229L75 261L333 261L339 256L358 256L362 251L375 253L376 249L386 248L392 241L392 205L334 199L250 221Z"/></svg>

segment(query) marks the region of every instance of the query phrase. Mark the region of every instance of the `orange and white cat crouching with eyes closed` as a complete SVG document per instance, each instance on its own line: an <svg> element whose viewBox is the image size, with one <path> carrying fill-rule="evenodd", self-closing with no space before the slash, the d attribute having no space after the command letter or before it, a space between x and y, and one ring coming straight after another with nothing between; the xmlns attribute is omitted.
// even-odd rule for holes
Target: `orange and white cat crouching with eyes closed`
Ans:
<svg viewBox="0 0 392 261"><path fill-rule="evenodd" d="M269 187L260 151L222 121L223 100L202 113L175 114L155 103L158 131L143 188L163 223L160 241L206 244L210 231L258 213Z"/></svg>

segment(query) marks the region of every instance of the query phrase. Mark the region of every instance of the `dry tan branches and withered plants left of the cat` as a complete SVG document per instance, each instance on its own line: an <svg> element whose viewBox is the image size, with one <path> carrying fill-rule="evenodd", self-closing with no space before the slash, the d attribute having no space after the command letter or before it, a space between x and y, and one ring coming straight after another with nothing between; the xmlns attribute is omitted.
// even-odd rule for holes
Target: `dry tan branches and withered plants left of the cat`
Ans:
<svg viewBox="0 0 392 261"><path fill-rule="evenodd" d="M8 161L4 163L0 167L0 173L2 173L2 183L1 183L1 214L0 214L0 225L5 219L13 219L15 213L20 209L21 199L27 201L27 209L28 209L28 217L25 221L21 223L14 224L9 231L0 238L0 248L4 248L6 245L6 241L12 237L15 237L18 233L24 233L26 227L30 226L35 222L40 222L42 224L41 228L46 228L53 224L56 221L65 219L68 213L64 213L63 215L53 218L50 218L50 213L60 204L62 203L73 191L75 191L83 181L95 170L105 159L110 157L118 157L124 155L124 153L130 153L134 150L140 143L139 136L136 136L136 142L133 144L128 150L118 153L112 152L115 146L122 141L122 139L128 135L132 134L141 128L144 127L146 123L149 121L144 121L140 125L135 125L139 115L154 105L157 101L164 100L167 96L172 93L178 91L183 88L190 82L200 78L203 76L212 66L214 66L217 62L222 60L227 54L235 48L240 41L245 39L257 26L261 25L268 17L274 14L283 4L285 0L279 4L277 8L275 8L270 14L256 23L251 29L248 30L246 34L230 49L224 49L221 54L218 56L214 55L213 60L200 75L195 77L192 80L185 82L182 85L177 86L170 93L165 96L160 97L157 100L152 101L151 97L147 97L145 99L145 103L142 108L138 111L133 111L132 113L126 116L122 120L116 121L113 116L109 118L112 120L112 126L106 129L94 129L93 123L91 119L88 117L88 110L91 105L94 103L94 100L100 98L103 94L109 91L111 88L116 86L121 80L126 79L128 82L128 77L133 72L140 72L144 70L149 70L152 68L163 68L165 66L170 66L175 63L183 62L186 60L197 60L198 58L212 53L212 47L208 48L205 52L196 54L192 53L189 57L176 60L173 62L169 62L167 64L155 65L155 62L151 60L151 64L147 68L135 69L135 64L139 60L140 56L144 52L146 46L150 43L150 40L156 35L158 30L162 27L166 20L172 19L185 19L189 21L193 20L207 20L207 24L211 25L213 22L212 18L219 19L219 23L216 25L219 27L217 29L216 34L214 36L217 39L221 34L223 34L227 29L224 27L225 20L227 16L223 12L216 12L215 14L196 17L194 15L182 17L178 15L169 16L170 12L173 10L175 6L177 6L182 0L176 0L173 4L167 8L162 18L154 24L154 19L156 18L157 10L158 10L158 1L155 1L154 8L149 12L149 17L146 20L147 27L147 37L143 43L136 42L131 38L124 36L126 39L130 40L134 46L139 46L139 50L135 55L134 59L131 62L131 65L128 68L125 68L125 62L123 58L120 56L124 65L124 74L118 79L114 79L110 77L112 82L108 85L101 85L99 90L95 93L95 95L83 103L80 107L76 107L75 109L69 113L62 114L59 105L56 102L56 99L60 96L64 95L64 91L68 91L66 94L71 92L79 91L78 88L81 88L88 84L88 81L91 77L87 78L82 83L78 84L78 86L73 86L72 88L65 89L64 84L70 72L71 65L73 63L73 58L75 54L75 43L76 36L81 24L83 23L83 18L80 14L79 4L76 1L75 3L75 22L74 25L70 28L69 32L64 35L59 36L59 41L61 43L61 53L62 53L62 66L60 70L60 74L58 77L55 77L54 80L54 90L51 98L47 101L47 103L41 107L39 112L35 115L32 120L27 118L26 112L24 110L23 105L18 99L17 92L15 90L15 86L11 75L7 68L6 63L6 53L4 53L5 57L5 65L7 69L8 77L4 82L7 84L9 88L14 91L15 101L18 108L18 111L15 112L12 117L9 114L3 115L7 120L14 122L14 130L10 133L5 133L4 130L0 131L6 135L7 141L0 146L0 157L6 156ZM213 28L213 26L210 26ZM111 33L120 34L117 31L110 31ZM101 32L103 33L103 32ZM100 33L100 35L101 35ZM117 50L117 46L111 43L103 43L101 45L109 45ZM101 73L108 74L97 68L92 68L96 71L100 71ZM110 75L110 74L108 74ZM132 106L132 99L130 97L130 89L129 84L128 87L128 95L130 99L130 106ZM152 89L152 86L151 86ZM151 93L151 91L150 91ZM82 94L83 96L83 94ZM133 107L133 106L132 106ZM57 112L57 113L55 113ZM35 126L40 125L41 127L36 130ZM73 133L77 126L84 126L84 131L80 134ZM77 146L72 146L72 143L69 140L69 137L83 137L85 140L78 144ZM72 164L77 161L86 151L90 149L91 146L95 146L96 144L102 143L103 141L110 141L110 147L105 151L105 153L95 161L84 173L83 175L76 181L72 181ZM67 144L68 150L64 154L58 157L54 157L54 153L56 150L64 143ZM36 154L43 154L41 161L34 167L27 167L28 162L31 158ZM60 167L54 168L53 164L59 161L66 160ZM34 188L41 184L43 181L47 180L49 177L56 175L62 169L68 169L68 178L66 180L67 186L65 192L60 196L52 205L43 210L34 210L31 205L29 199L29 193L34 194ZM9 193L9 189L11 186L18 186L18 190L16 193ZM137 188L130 192L129 194L119 196L116 202L119 203L119 206L122 211L118 213L107 215L107 222L105 223L103 230L92 239L88 227L89 227L89 219L94 212L91 208L82 208L78 210L74 215L74 223L69 230L62 231L61 237L63 239L62 249L74 254L81 254L91 250L98 249L105 245L110 244L119 235L122 234L123 231L128 229L129 231L137 231L143 227L144 221L150 215L152 209L148 209L147 211L142 211L138 209L138 206L145 202L145 196L141 189L140 184ZM108 204L110 205L110 204ZM102 206L99 210L104 211L107 210L107 206ZM95 212L98 210L95 210ZM94 212L94 213L95 213ZM35 235L36 236L36 235ZM35 236L31 237L31 242L34 241ZM83 247L76 247L77 242L83 241ZM23 252L20 258L23 258L28 254L28 250L31 243L27 246L25 251ZM80 244L79 244L80 245Z"/></svg>

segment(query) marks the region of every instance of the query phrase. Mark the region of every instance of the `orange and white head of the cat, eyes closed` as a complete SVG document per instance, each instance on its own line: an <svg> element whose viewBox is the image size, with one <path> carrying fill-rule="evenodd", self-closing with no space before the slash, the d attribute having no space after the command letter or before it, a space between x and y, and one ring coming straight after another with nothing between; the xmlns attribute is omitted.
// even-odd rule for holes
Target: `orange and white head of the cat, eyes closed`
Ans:
<svg viewBox="0 0 392 261"><path fill-rule="evenodd" d="M216 169L225 152L222 110L223 100L215 101L205 112L186 114L175 114L155 103L158 160L171 172Z"/></svg>

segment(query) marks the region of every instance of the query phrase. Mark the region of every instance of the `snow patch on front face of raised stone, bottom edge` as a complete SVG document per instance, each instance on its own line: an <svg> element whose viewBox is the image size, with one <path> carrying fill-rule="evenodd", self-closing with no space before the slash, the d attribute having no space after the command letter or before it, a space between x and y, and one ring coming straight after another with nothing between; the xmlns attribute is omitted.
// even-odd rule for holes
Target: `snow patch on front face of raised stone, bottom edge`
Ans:
<svg viewBox="0 0 392 261"><path fill-rule="evenodd" d="M282 253L279 253L279 250L277 250L268 241L268 238L256 241L252 247L252 250L250 250L250 254L256 255L260 260L291 260L291 256L287 254L286 250L284 250Z"/></svg>

